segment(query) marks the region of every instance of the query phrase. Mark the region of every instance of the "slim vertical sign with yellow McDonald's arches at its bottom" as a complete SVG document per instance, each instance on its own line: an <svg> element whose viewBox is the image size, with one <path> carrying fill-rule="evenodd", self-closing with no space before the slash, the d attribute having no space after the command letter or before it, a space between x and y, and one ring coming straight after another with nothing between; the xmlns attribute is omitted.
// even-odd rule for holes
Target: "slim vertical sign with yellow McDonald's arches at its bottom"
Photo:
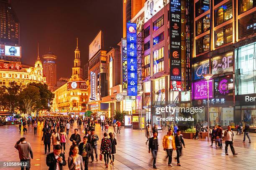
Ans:
<svg viewBox="0 0 256 170"><path fill-rule="evenodd" d="M122 56L122 87L123 89L127 89L127 42L126 39L122 38L121 43L121 56Z"/></svg>

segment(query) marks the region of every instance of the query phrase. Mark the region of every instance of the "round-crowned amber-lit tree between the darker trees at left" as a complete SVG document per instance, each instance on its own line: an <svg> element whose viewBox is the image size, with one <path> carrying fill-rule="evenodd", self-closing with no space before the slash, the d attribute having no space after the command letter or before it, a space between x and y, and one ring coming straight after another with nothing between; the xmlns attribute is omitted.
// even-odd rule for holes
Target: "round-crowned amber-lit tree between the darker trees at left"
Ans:
<svg viewBox="0 0 256 170"><path fill-rule="evenodd" d="M23 103L21 109L25 110L26 114L31 115L31 112L36 109L37 102L40 99L39 88L33 85L27 85L20 91L19 103Z"/></svg>

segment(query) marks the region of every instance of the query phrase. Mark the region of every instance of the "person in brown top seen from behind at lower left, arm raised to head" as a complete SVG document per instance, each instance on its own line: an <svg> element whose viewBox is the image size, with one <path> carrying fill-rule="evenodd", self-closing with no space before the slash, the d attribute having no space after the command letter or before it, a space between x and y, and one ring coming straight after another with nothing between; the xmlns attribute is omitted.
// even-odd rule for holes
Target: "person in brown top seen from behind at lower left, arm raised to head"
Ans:
<svg viewBox="0 0 256 170"><path fill-rule="evenodd" d="M20 163L27 163L26 167L21 166L21 170L30 170L30 162L33 159L33 150L30 143L26 142L26 138L20 138L14 147L19 152Z"/></svg>

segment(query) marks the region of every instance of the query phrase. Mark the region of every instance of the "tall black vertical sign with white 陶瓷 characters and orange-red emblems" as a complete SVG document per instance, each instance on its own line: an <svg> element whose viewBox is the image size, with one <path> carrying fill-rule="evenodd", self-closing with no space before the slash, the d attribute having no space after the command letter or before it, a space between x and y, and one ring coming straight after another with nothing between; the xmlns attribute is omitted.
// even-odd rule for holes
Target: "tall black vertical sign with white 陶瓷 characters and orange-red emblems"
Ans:
<svg viewBox="0 0 256 170"><path fill-rule="evenodd" d="M182 80L181 0L170 0L170 80ZM184 49L184 46L183 46Z"/></svg>

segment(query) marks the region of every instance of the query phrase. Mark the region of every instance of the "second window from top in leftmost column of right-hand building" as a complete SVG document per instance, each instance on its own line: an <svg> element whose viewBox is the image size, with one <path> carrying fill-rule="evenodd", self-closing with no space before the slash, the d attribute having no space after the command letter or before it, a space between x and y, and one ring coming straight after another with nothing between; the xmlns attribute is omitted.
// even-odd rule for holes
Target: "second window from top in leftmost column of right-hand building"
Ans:
<svg viewBox="0 0 256 170"><path fill-rule="evenodd" d="M200 35L207 30L210 30L210 14L196 21L196 35Z"/></svg>

